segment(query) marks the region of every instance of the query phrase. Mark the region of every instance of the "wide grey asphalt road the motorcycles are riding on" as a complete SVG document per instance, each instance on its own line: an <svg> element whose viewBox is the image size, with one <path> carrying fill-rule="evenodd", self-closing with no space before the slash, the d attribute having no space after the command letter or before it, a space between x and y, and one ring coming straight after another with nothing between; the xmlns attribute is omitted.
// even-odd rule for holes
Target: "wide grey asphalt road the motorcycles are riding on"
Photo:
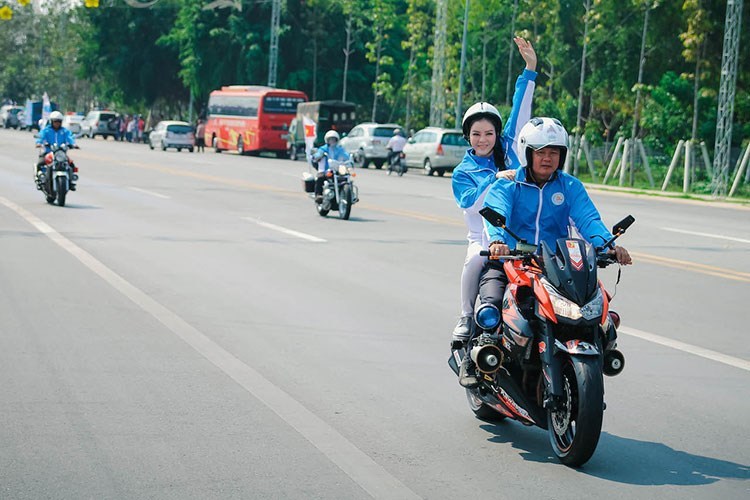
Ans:
<svg viewBox="0 0 750 500"><path fill-rule="evenodd" d="M591 192L635 216L635 265L574 470L476 420L447 366L449 177L360 170L341 221L301 162L80 144L60 208L0 131L0 498L750 497L747 209Z"/></svg>

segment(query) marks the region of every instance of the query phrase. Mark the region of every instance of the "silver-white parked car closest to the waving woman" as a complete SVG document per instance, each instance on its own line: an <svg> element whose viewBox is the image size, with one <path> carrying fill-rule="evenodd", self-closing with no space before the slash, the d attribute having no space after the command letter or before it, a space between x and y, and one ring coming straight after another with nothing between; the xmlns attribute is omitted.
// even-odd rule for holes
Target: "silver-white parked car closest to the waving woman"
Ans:
<svg viewBox="0 0 750 500"><path fill-rule="evenodd" d="M406 165L423 169L425 175L437 173L442 177L461 163L468 147L459 129L423 128L404 146Z"/></svg>

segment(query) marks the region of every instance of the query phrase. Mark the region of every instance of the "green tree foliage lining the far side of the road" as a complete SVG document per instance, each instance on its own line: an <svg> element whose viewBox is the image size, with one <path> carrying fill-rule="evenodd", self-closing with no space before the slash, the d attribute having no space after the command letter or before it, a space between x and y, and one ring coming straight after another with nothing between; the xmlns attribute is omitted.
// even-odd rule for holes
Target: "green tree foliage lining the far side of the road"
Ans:
<svg viewBox="0 0 750 500"><path fill-rule="evenodd" d="M448 0L447 115L453 116L465 0ZM208 0L160 0L133 9L121 0L99 9L63 8L33 15L16 9L2 24L0 94L13 99L47 91L69 107L114 102L161 103L200 110L208 93L228 84L265 84L271 2L242 0L242 9L204 7ZM506 103L508 78L522 69L511 40L532 41L539 57L535 113L572 129L579 98L583 0L471 3L463 102ZM629 135L641 30L649 10L639 134L669 147L692 134L713 145L726 3L718 0L592 0L583 89L583 131L591 142ZM64 22L62 22L64 20ZM339 99L350 26L347 100L360 117L419 128L430 111L435 0L285 0L282 2L278 86L311 99ZM750 9L742 19L743 36ZM42 29L44 26L44 29ZM746 37L745 37L746 38ZM750 43L740 44L735 127L750 133ZM509 53L509 51L512 51ZM512 55L511 55L512 54ZM510 74L509 56L513 59ZM448 120L451 123L452 120Z"/></svg>

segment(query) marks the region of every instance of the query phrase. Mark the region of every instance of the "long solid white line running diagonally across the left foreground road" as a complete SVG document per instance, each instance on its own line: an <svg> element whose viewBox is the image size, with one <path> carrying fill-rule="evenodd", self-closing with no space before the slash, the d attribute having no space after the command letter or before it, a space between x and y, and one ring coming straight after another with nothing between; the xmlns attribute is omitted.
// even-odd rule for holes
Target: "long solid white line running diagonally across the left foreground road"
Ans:
<svg viewBox="0 0 750 500"><path fill-rule="evenodd" d="M357 448L336 429L275 386L259 372L236 358L198 329L170 311L93 255L67 239L23 207L0 196L0 203L16 212L83 265L97 274L138 307L151 314L177 337L262 401L282 420L299 432L321 453L373 498L420 498L380 464Z"/></svg>

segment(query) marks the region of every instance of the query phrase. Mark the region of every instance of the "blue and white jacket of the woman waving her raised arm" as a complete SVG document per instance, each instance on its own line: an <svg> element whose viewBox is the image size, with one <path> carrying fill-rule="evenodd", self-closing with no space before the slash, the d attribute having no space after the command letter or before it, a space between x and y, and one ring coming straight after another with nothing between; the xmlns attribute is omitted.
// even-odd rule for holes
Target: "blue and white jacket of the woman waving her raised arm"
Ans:
<svg viewBox="0 0 750 500"><path fill-rule="evenodd" d="M516 138L521 128L531 119L531 100L534 95L536 72L524 69L516 80L513 94L513 108L505 122L503 135L500 137L506 155L506 164L501 170L516 169L518 147ZM464 159L453 170L453 197L460 208L464 209L464 221L469 228L469 241L481 241L483 226L479 209L482 208L487 188L495 181L498 166L492 156L476 156L473 149L466 151Z"/></svg>

